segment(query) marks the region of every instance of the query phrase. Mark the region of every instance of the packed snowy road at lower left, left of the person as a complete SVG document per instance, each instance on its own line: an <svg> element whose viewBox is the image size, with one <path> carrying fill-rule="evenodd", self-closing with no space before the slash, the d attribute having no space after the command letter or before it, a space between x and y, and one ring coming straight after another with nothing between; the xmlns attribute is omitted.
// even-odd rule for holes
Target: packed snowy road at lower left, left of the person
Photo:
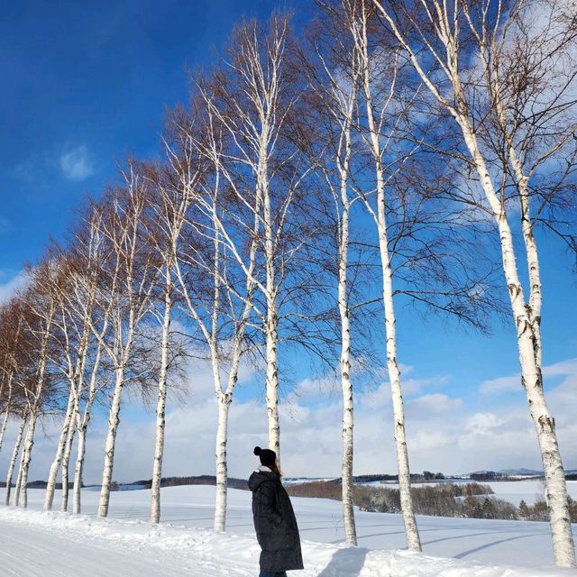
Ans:
<svg viewBox="0 0 577 577"><path fill-rule="evenodd" d="M208 538L207 538L208 537ZM89 517L0 509L2 577L248 577L253 563L223 563L212 536ZM221 540L230 537L221 536ZM233 537L234 539L234 537ZM234 547L232 548L234 550ZM230 561L230 560L229 560Z"/></svg>

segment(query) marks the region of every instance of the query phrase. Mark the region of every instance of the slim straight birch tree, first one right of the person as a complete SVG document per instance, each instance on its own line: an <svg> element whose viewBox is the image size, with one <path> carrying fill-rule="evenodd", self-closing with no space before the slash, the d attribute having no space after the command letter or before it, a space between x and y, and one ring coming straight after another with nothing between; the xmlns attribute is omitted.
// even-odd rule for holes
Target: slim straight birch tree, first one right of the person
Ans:
<svg viewBox="0 0 577 577"><path fill-rule="evenodd" d="M353 42L347 41L346 14L337 7L323 6L324 16L309 32L307 50L303 54L309 84L315 100L307 99L307 105L316 109L312 122L316 126L318 147L310 151L311 163L325 181L330 191L334 218L329 226L336 233L336 285L337 308L340 320L339 369L343 392L343 462L342 501L346 541L357 545L353 508L353 380L352 335L350 303L350 229L353 204L360 199L351 195L351 157L353 155L353 126L357 114L357 90L360 80L358 54ZM344 16L344 18L343 18ZM328 24L328 30L326 28ZM326 126L325 132L320 127ZM319 150L320 149L320 150ZM331 230L329 234L334 231Z"/></svg>

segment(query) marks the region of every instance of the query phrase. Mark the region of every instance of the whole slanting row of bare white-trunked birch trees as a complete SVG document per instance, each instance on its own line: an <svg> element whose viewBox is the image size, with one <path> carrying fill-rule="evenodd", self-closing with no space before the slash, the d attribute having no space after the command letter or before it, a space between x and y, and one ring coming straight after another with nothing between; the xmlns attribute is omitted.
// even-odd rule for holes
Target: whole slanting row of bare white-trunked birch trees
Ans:
<svg viewBox="0 0 577 577"><path fill-rule="evenodd" d="M386 369L392 415L383 419L392 418L408 547L419 551L398 307L480 331L507 314L543 458L554 560L575 566L543 386L537 231L576 248L577 8L561 0L314 7L298 32L285 14L240 23L222 59L191 75L188 104L167 114L159 159L127 160L0 308L0 450L9 421L16 431L5 504L26 506L38 425L56 417L44 508L60 474L61 508L71 488L80 513L87 433L104 404L105 517L125 391L138 389L156 403L158 523L167 394L194 356L212 367L215 530L224 531L239 371L243 362L259 369L269 446L280 458L279 375L292 349L342 385L350 545L354 367Z"/></svg>

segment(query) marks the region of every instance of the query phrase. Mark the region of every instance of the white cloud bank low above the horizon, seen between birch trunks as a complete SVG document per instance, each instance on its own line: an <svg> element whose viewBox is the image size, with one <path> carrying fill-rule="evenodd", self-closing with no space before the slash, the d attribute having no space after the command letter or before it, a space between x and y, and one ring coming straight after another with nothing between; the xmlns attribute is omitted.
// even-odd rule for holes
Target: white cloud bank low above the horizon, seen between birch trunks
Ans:
<svg viewBox="0 0 577 577"><path fill-rule="evenodd" d="M563 368L564 367L564 368ZM547 399L555 417L563 463L577 467L577 363L555 363L549 373L572 373L551 388ZM164 474L214 474L217 407L211 371L206 362L196 362L189 372L188 402L169 403L166 425ZM254 385L254 375L244 370ZM259 378L259 377L257 377ZM261 379L261 377L259 378ZM424 379L428 381L429 379ZM302 395L280 399L282 466L288 476L340 476L342 452L342 401L338 387L324 395L330 380L307 379L298 386ZM258 390L258 388L257 388ZM376 396L376 397L375 397ZM240 402L235 398L229 421L229 474L246 478L255 465L252 448L267 442L267 417L261 395ZM379 401L380 399L380 401ZM377 402L379 401L379 402ZM359 390L355 397L354 472L395 472L392 409L387 383L377 391ZM153 409L123 408L117 440L114 479L133 481L151 478L154 444ZM87 482L99 482L105 445L105 414L95 416L88 435ZM472 472L515 467L541 467L536 434L526 402L514 398L503 402L478 395L471 403L450 394L429 391L407 400L407 435L411 469L414 472ZM58 427L48 424L49 437L41 433L35 444L31 479L46 478L57 441ZM0 471L5 470L14 442L15 425L0 453Z"/></svg>

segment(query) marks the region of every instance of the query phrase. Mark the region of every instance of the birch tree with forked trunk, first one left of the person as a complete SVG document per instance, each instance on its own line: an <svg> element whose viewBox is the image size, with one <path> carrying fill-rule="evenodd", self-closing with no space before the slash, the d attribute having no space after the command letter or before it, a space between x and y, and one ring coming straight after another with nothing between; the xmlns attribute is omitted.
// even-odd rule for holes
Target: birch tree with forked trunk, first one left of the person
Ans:
<svg viewBox="0 0 577 577"><path fill-rule="evenodd" d="M200 88L206 103L210 96ZM198 102L197 102L198 105ZM172 140L166 142L169 167L172 172L171 195L180 198L179 214L186 220L186 234L175 238L175 273L179 292L186 303L188 316L197 325L206 343L212 366L215 397L218 405L216 429L216 498L215 531L226 527L228 417L238 380L240 363L245 351L244 334L252 311L253 275L260 221L253 219L253 228L241 224L241 218L226 220L222 195L224 186L238 186L234 175L225 167L222 150L222 128L211 106L194 114L175 114L172 119ZM205 115L206 114L206 115ZM205 168L203 168L205 167ZM224 185L223 185L224 183ZM164 193L166 194L166 193ZM232 225L236 220L236 231ZM224 224L227 222L228 224ZM180 230L179 229L179 230ZM221 229L243 244L248 243L247 272L244 284L233 279L231 261L222 242ZM240 236L239 236L240 235ZM178 251L177 248L178 241ZM241 252L237 255L240 257ZM226 384L224 385L224 380Z"/></svg>

